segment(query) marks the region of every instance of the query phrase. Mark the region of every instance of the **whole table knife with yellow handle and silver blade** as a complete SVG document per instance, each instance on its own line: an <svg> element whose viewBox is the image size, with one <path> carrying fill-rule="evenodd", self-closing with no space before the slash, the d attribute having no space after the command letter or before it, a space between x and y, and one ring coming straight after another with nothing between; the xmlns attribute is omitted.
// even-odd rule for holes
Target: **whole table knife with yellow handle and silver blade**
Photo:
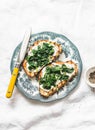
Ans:
<svg viewBox="0 0 95 130"><path fill-rule="evenodd" d="M19 67L20 67L20 64L22 63L22 61L25 57L25 54L26 54L30 35L31 35L31 30L28 29L25 33L23 42L21 44L21 48L20 48L20 52L19 52L19 55L18 55L18 58L17 58L17 62L16 62L16 65L13 69L12 76L11 76L11 79L10 79L10 82L9 82L9 85L8 85L8 89L7 89L7 92L6 92L7 98L10 98L12 96L12 93L13 93L13 90L14 90L14 85L16 83L16 79L17 79L18 72L19 72Z"/></svg>

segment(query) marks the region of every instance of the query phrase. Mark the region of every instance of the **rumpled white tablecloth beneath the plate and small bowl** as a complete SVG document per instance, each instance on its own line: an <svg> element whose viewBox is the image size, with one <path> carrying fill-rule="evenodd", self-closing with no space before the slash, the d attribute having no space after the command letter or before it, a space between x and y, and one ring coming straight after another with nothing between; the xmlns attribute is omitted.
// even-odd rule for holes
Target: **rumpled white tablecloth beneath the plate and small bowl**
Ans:
<svg viewBox="0 0 95 130"><path fill-rule="evenodd" d="M53 103L28 100L15 88L5 98L13 50L28 27L66 35L83 61L80 84ZM0 0L0 130L95 130L95 92L85 71L95 65L95 0Z"/></svg>

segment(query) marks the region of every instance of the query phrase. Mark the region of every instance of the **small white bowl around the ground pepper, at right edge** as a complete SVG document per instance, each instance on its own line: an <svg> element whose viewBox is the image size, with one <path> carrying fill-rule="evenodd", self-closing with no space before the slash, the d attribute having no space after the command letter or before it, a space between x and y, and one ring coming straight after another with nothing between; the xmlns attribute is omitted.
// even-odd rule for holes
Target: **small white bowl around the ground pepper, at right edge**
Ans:
<svg viewBox="0 0 95 130"><path fill-rule="evenodd" d="M91 82L89 81L89 75L90 75L90 73L92 73L93 71L95 71L95 66L89 68L89 69L86 71L86 82L87 82L87 84L88 84L90 87L95 88L95 83L91 83Z"/></svg>

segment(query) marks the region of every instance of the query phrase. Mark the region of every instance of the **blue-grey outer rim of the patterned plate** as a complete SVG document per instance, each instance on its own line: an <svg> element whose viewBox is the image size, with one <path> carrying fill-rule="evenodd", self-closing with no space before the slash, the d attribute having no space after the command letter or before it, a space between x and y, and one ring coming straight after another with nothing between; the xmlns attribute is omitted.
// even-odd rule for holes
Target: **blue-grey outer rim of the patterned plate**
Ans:
<svg viewBox="0 0 95 130"><path fill-rule="evenodd" d="M52 99L52 100L42 100L42 99L39 99L39 98L36 98L36 97L29 97L29 94L27 94L25 91L23 91L23 89L21 89L17 84L15 85L15 86L19 89L19 91L21 92L21 94L23 94L26 98L28 98L28 99L30 99L30 100L31 100L31 99L37 100L37 101L44 102L44 103L53 102L53 101L56 101L56 100L61 100L61 99L64 99L65 97L67 97L68 95L70 95L70 93L78 86L79 81L80 81L80 78L81 78L81 74L82 74L82 69L83 69L82 59L81 59L81 56L80 56L80 53L79 53L79 50L78 50L77 46L75 46L74 43L72 43L71 40L69 40L69 39L68 39L66 36L64 36L63 34L51 32L51 31L43 31L43 32L39 32L39 33L32 34L32 35L30 36L30 39L31 39L31 37L34 37L34 36L36 36L36 35L43 35L43 34L49 34L49 35L50 35L51 33L54 34L54 35L56 35L56 36L58 36L58 37L64 37L64 38L65 38L67 41L69 41L69 42L73 45L73 47L77 50L78 57L79 57L79 59L80 59L80 70L81 70L81 72L80 72L80 75L79 75L79 78L78 78L78 80L77 80L76 85L72 88L72 90L71 90L70 92L68 92L68 94L66 94L64 97L59 97L59 98L55 98L55 99ZM12 53L11 62L10 62L10 71L11 71L11 73L12 73L12 59L13 59L15 53L16 53L17 48L20 48L21 44L22 44L22 42L20 42L20 43L15 47L15 49L14 49L14 51L13 51L13 53Z"/></svg>

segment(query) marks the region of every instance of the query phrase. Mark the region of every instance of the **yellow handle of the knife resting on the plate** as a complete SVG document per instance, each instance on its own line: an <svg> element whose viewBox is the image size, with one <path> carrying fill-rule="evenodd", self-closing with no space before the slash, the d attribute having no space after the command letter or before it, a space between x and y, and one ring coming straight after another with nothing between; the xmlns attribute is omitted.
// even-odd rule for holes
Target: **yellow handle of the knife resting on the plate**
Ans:
<svg viewBox="0 0 95 130"><path fill-rule="evenodd" d="M15 67L13 72L12 72L10 83L9 83L9 86L8 86L8 89L7 89L7 92L6 92L7 98L10 98L12 96L14 85L15 85L15 82L16 82L16 79L17 79L17 76L18 76L18 72L19 72L19 68Z"/></svg>

